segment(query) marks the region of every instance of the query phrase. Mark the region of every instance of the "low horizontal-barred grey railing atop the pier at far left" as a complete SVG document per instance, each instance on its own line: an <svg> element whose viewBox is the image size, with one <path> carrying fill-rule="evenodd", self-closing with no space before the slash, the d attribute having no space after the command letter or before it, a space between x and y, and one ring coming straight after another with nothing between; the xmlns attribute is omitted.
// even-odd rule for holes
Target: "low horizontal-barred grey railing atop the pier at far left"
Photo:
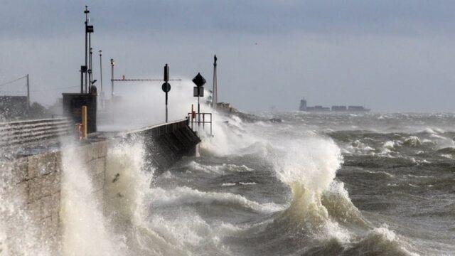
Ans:
<svg viewBox="0 0 455 256"><path fill-rule="evenodd" d="M4 122L0 123L0 146L55 139L72 132L73 122L68 118Z"/></svg>

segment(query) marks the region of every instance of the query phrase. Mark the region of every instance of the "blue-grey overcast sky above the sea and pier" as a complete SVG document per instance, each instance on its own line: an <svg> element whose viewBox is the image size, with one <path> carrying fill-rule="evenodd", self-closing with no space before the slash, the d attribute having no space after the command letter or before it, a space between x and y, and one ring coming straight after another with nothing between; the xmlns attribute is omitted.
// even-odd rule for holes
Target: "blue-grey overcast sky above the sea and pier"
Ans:
<svg viewBox="0 0 455 256"><path fill-rule="evenodd" d="M455 111L450 0L3 0L0 83L30 73L32 100L46 105L77 92L85 4L107 90L110 58L117 76L161 78L168 63L171 77L200 72L211 87L217 54L219 100L241 110L296 110L306 97L381 112ZM25 92L24 82L1 90Z"/></svg>

